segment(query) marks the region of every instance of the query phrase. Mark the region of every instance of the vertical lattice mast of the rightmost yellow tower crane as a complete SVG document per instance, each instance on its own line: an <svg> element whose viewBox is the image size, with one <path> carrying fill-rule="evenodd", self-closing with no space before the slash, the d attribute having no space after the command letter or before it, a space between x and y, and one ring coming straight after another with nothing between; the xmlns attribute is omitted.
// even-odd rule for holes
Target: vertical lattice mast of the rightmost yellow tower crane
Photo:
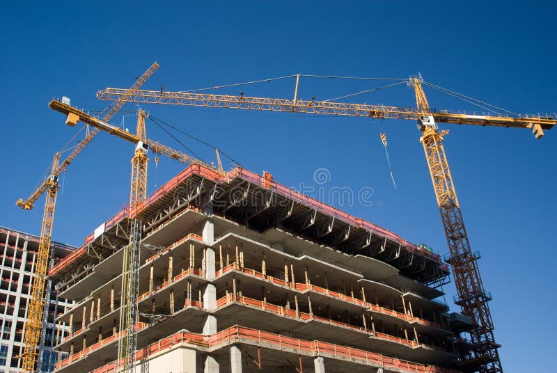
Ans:
<svg viewBox="0 0 557 373"><path fill-rule="evenodd" d="M416 106L422 113L418 118L418 128L422 132L420 141L423 144L447 239L447 262L453 271L457 289L455 303L462 308L462 315L471 317L473 322L473 328L469 331L471 349L461 349L462 360L467 368L474 372L503 372L497 351L501 345L495 342L493 320L487 304L491 297L483 287L477 262L479 255L473 253L470 248L443 146L443 139L448 131L437 129L421 86L421 79L412 78L411 85L416 91Z"/></svg>

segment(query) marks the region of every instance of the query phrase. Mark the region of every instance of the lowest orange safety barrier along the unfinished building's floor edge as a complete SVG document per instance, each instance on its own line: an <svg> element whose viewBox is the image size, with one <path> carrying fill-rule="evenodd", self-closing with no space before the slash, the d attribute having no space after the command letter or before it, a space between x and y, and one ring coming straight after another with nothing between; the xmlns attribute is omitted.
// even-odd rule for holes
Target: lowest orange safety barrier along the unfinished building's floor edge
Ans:
<svg viewBox="0 0 557 373"><path fill-rule="evenodd" d="M171 349L177 344L194 344L207 348L219 349L222 344L231 344L236 342L248 342L258 346L270 349L290 349L298 354L306 356L326 356L329 358L340 358L349 360L354 363L365 363L375 367L394 368L405 373L458 373L450 370L431 365L423 365L412 363L407 360L391 358L383 356L375 352L354 349L352 347L342 346L338 344L322 342L318 340L308 341L299 338L287 337L280 334L260 331L258 329L246 328L244 326L231 326L223 331L219 331L212 335L201 335L198 333L189 333L180 331L167 338L159 340L148 347L136 352L136 360L141 360L152 354ZM66 362L68 359L63 360ZM77 359L76 359L77 360ZM68 360L69 363L69 360ZM58 363L59 364L59 363ZM58 368L58 364L56 368ZM67 363L66 363L67 364ZM63 364L65 365L65 364ZM63 366L60 365L60 366ZM118 368L118 360L113 361L103 367L97 368L93 373L115 373Z"/></svg>

